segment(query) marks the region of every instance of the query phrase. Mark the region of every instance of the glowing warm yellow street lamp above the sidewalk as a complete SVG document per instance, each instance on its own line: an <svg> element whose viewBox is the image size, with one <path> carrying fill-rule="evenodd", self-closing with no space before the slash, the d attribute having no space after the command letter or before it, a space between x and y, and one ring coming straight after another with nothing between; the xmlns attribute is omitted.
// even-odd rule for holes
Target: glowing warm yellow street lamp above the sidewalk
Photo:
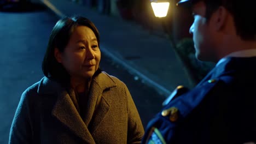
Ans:
<svg viewBox="0 0 256 144"><path fill-rule="evenodd" d="M169 2L165 3L151 3L154 14L156 17L165 17L167 15L167 11L169 9Z"/></svg>

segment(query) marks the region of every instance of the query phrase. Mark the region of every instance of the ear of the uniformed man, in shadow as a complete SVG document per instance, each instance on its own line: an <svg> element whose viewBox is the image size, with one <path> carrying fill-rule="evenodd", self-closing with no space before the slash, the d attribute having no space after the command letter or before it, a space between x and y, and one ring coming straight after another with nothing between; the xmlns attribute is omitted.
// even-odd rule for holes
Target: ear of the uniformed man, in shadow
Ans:
<svg viewBox="0 0 256 144"><path fill-rule="evenodd" d="M214 24L216 31L222 30L227 22L228 10L220 6L214 13Z"/></svg>

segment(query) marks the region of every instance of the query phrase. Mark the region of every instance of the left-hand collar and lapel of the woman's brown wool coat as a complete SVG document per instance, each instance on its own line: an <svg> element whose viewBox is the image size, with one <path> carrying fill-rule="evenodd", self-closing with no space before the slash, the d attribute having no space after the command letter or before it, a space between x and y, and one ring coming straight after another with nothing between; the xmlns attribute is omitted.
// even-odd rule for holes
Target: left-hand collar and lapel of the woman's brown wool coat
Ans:
<svg viewBox="0 0 256 144"><path fill-rule="evenodd" d="M75 135L84 140L85 143L95 143L71 97L64 88L44 77L39 84L38 93L56 95L58 98L51 112L52 115L66 125Z"/></svg>

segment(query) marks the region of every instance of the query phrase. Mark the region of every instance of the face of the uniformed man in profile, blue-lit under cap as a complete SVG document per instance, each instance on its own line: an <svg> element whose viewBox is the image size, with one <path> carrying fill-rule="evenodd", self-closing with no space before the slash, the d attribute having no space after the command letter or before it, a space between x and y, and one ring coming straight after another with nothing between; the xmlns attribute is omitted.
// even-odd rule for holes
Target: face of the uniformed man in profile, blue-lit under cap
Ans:
<svg viewBox="0 0 256 144"><path fill-rule="evenodd" d="M194 22L189 32L193 34L195 56L201 61L211 61L212 38L210 21L205 18L206 5L203 1L197 2L192 7Z"/></svg>

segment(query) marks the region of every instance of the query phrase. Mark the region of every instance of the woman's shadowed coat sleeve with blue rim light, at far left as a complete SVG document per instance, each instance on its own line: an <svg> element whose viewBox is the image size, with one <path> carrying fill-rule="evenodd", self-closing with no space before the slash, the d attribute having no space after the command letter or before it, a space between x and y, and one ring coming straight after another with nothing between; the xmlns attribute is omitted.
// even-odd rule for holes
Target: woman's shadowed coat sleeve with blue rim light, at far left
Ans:
<svg viewBox="0 0 256 144"><path fill-rule="evenodd" d="M10 128L9 143L32 143L31 119L28 112L28 92L21 95L16 109L13 123Z"/></svg>

